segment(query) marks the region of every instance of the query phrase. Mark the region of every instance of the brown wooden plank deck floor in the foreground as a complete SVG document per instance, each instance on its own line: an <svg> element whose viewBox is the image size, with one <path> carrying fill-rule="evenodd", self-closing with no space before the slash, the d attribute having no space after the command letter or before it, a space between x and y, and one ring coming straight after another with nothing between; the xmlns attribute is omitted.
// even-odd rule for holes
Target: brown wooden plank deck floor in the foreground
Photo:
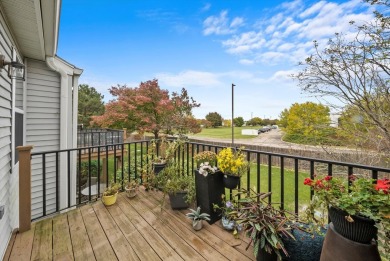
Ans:
<svg viewBox="0 0 390 261"><path fill-rule="evenodd" d="M161 192L115 205L101 201L33 223L16 234L5 260L254 260L248 239L234 239L219 222L194 231L185 211L159 206ZM168 202L168 201L166 201Z"/></svg>

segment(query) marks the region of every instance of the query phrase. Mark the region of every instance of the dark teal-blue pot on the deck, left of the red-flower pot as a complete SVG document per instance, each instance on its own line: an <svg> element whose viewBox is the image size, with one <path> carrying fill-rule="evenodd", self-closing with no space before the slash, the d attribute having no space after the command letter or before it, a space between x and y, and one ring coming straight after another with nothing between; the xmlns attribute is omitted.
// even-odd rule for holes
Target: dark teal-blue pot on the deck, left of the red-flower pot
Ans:
<svg viewBox="0 0 390 261"><path fill-rule="evenodd" d="M288 257L282 253L283 260L288 261L318 261L321 257L322 245L326 229L321 229L321 234L314 235L299 229L293 229L292 238L282 237L284 247L287 250Z"/></svg>

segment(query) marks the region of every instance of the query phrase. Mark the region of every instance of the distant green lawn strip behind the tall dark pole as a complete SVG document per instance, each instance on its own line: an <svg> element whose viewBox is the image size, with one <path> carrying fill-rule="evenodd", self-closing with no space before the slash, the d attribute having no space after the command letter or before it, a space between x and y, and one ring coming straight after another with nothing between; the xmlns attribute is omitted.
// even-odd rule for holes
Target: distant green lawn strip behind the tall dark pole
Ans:
<svg viewBox="0 0 390 261"><path fill-rule="evenodd" d="M254 135L241 135L241 130L243 129L256 129L260 127L247 126L247 127L234 127L234 138L235 139L253 139L257 136ZM192 135L192 137L208 137L208 138L219 138L219 139L231 139L232 138L232 128L231 127L218 127L218 128L203 128L200 133Z"/></svg>

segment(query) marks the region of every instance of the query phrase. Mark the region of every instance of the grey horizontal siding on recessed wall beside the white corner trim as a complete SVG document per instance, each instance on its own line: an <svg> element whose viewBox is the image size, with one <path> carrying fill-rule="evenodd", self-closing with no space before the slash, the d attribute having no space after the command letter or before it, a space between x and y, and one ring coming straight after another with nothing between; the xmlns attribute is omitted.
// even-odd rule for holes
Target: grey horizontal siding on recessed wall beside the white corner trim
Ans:
<svg viewBox="0 0 390 261"><path fill-rule="evenodd" d="M44 62L27 61L26 144L33 152L60 149L60 75ZM46 157L46 211L55 210L55 156ZM32 158L32 217L42 215L42 157Z"/></svg>

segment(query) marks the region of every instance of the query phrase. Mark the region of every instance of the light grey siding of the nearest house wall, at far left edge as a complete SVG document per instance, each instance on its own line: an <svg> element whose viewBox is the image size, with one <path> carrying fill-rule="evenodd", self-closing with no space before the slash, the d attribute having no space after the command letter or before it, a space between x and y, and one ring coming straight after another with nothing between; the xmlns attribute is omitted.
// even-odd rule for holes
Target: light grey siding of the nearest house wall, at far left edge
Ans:
<svg viewBox="0 0 390 261"><path fill-rule="evenodd" d="M0 53L11 59L12 47L4 27L0 24ZM11 180L11 122L12 86L6 70L0 72L0 205L5 205L5 215L0 220L0 259L5 252L12 232L10 180Z"/></svg>

